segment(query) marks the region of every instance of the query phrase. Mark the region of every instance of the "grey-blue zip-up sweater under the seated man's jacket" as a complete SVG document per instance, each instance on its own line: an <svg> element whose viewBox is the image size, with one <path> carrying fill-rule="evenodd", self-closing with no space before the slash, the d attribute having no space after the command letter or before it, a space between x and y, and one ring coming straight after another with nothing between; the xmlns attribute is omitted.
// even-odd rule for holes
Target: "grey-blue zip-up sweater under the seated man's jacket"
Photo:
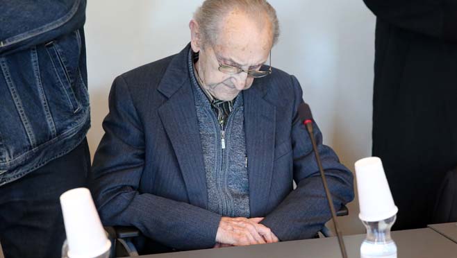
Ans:
<svg viewBox="0 0 457 258"><path fill-rule="evenodd" d="M194 76L192 51L189 53L189 71L203 148L208 209L222 216L249 217L249 178L242 92L235 100L223 134L215 112ZM225 148L222 148L223 136Z"/></svg>

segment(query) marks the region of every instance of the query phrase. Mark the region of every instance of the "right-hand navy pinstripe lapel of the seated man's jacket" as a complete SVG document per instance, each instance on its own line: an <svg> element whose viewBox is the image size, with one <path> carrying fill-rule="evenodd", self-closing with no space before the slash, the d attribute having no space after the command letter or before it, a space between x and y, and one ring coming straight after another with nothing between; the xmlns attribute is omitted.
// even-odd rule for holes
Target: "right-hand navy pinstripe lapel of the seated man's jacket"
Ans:
<svg viewBox="0 0 457 258"><path fill-rule="evenodd" d="M243 92L251 217L265 215L274 162L276 107L263 98L267 85L255 87L260 84Z"/></svg>

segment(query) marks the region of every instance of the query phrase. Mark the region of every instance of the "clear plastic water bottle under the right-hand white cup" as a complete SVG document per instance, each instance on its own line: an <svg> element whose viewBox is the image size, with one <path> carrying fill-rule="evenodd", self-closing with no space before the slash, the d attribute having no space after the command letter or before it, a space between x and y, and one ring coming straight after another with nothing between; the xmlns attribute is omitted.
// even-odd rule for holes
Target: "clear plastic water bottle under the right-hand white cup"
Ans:
<svg viewBox="0 0 457 258"><path fill-rule="evenodd" d="M397 245L390 237L390 228L396 215L383 221L362 221L367 228L367 238L360 246L360 258L397 258Z"/></svg>

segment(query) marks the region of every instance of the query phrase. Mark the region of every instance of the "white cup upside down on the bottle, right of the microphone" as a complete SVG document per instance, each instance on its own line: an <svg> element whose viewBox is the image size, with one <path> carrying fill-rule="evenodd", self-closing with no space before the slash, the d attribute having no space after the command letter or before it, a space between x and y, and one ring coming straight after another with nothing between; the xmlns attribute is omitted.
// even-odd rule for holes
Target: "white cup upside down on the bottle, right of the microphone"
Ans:
<svg viewBox="0 0 457 258"><path fill-rule="evenodd" d="M362 221L383 221L397 214L383 163L379 157L365 157L355 164L358 205Z"/></svg>

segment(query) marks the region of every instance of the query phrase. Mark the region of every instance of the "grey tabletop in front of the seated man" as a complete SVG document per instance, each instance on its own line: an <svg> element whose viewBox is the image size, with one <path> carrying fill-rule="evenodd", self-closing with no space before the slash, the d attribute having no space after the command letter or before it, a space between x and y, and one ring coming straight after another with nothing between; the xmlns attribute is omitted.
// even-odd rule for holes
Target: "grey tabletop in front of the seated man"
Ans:
<svg viewBox="0 0 457 258"><path fill-rule="evenodd" d="M431 228L418 230L402 230L392 232L392 238L397 243L397 257L399 258L430 258L430 257L457 257L457 244L442 236ZM360 257L360 244L365 234L344 236L344 243L348 257ZM338 239L307 239L269 243L255 246L240 246L220 249L194 250L186 252L172 252L158 255L144 255L142 258L333 258L342 257L338 246Z"/></svg>

